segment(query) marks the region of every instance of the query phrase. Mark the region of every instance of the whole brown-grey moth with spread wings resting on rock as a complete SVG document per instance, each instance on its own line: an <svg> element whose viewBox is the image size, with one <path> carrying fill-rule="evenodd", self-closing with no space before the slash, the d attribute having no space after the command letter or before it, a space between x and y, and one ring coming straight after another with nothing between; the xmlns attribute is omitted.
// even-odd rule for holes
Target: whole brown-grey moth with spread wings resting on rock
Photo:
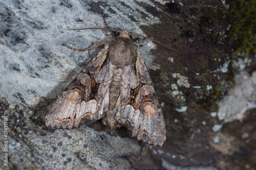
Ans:
<svg viewBox="0 0 256 170"><path fill-rule="evenodd" d="M46 125L73 129L102 118L104 125L124 126L138 140L161 146L166 139L163 114L145 62L132 40L135 34L127 29L117 32L120 35L112 41L87 49L72 48L90 51L103 47L58 96L46 115Z"/></svg>

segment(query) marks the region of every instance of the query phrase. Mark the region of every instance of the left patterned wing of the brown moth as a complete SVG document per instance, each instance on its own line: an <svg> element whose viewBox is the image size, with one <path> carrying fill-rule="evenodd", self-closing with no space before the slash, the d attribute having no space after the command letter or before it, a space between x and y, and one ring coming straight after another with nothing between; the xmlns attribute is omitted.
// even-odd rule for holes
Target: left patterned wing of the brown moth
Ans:
<svg viewBox="0 0 256 170"><path fill-rule="evenodd" d="M82 69L53 104L46 115L46 125L73 129L98 120L108 105L107 92L115 66L106 60L109 46L104 48Z"/></svg>

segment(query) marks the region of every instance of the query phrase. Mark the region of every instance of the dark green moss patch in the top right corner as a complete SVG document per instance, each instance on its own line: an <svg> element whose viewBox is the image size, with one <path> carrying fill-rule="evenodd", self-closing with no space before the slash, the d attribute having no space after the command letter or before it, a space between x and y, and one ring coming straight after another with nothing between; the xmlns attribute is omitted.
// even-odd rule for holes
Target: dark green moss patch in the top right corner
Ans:
<svg viewBox="0 0 256 170"><path fill-rule="evenodd" d="M229 4L229 34L237 53L256 53L256 1L237 0Z"/></svg>

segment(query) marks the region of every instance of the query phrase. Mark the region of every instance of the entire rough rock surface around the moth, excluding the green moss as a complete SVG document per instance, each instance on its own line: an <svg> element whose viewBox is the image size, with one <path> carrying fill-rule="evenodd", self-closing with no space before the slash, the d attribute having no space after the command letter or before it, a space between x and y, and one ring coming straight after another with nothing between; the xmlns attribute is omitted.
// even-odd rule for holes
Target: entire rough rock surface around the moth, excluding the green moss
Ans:
<svg viewBox="0 0 256 170"><path fill-rule="evenodd" d="M111 28L151 35L180 52L148 40L139 45L164 114L162 148L100 121L76 130L45 126L52 101L97 53L61 44L85 48L109 39L102 30L67 29L105 27L102 13ZM231 65L224 14L213 0L1 1L0 126L8 115L9 166L1 161L0 168L253 169L255 109L245 110L255 105L255 72Z"/></svg>

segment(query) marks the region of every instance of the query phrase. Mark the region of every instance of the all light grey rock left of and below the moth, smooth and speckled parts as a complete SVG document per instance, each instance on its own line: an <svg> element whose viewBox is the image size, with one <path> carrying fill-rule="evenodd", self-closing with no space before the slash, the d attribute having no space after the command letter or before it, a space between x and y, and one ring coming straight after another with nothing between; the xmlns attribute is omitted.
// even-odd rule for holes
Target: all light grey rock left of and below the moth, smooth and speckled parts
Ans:
<svg viewBox="0 0 256 170"><path fill-rule="evenodd" d="M78 53L61 44L86 48L109 39L102 30L67 29L103 28L101 13L104 13L111 28L120 31L129 28L132 33L144 35L129 15L122 15L131 13L131 8L150 16L146 19L142 19L139 13L133 16L143 25L157 22L158 18L138 4L125 3L62 0L0 2L0 92L3 97L1 104L5 107L2 107L1 115L3 113L9 119L9 166L1 162L1 168L131 168L124 157L140 153L141 147L135 139L111 136L86 125L77 130L49 130L44 122L49 101L56 99L97 52L92 51L88 56L87 52ZM142 55L155 47L152 42L148 44L150 46L143 45L141 48ZM154 68L152 56L143 56L147 56L147 65ZM3 119L0 124L3 127ZM3 142L0 145L4 147Z"/></svg>

